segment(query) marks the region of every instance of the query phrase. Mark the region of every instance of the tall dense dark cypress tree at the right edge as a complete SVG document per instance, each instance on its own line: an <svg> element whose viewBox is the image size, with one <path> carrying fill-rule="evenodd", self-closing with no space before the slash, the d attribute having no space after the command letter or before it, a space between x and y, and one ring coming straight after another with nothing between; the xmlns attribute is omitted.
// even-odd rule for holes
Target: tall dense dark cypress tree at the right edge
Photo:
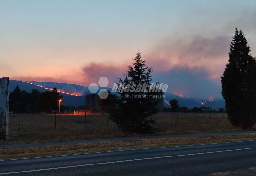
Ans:
<svg viewBox="0 0 256 176"><path fill-rule="evenodd" d="M221 83L230 123L251 128L256 122L256 60L241 29L236 28L231 41Z"/></svg>

